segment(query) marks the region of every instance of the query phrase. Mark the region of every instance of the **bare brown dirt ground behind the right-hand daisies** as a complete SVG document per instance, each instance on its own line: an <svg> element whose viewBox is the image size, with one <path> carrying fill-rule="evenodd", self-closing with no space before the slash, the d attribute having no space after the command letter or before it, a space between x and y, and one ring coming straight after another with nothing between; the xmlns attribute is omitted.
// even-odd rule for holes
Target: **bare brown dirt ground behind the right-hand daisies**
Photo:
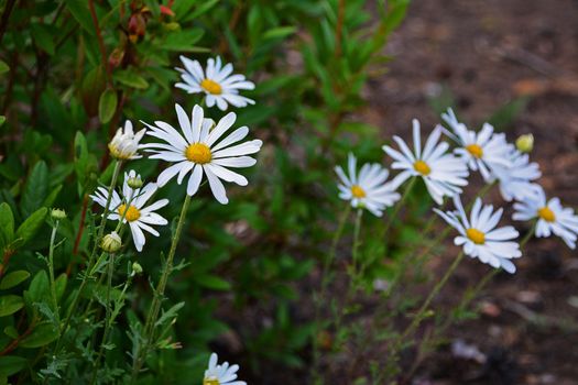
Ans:
<svg viewBox="0 0 578 385"><path fill-rule="evenodd" d="M388 51L394 61L368 87L364 113L384 136L407 138L414 117L423 130L433 128L439 118L428 98L444 87L470 127L530 96L506 134L534 134L539 183L578 207L578 1L414 1ZM497 195L488 199L501 201ZM445 265L449 255L440 260ZM414 384L578 384L578 252L560 240L534 240L517 266L479 298L481 318L450 331L486 363L441 348L418 369ZM487 272L466 261L441 300L457 298Z"/></svg>

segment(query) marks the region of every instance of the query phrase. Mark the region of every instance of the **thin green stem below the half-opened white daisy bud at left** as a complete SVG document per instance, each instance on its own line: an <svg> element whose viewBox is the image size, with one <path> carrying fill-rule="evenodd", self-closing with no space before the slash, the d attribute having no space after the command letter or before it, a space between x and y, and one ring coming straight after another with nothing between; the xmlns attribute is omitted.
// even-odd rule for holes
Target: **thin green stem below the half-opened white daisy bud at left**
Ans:
<svg viewBox="0 0 578 385"><path fill-rule="evenodd" d="M78 287L78 290L76 292L73 302L70 307L68 308L66 318L64 320L64 326L61 329L61 333L58 336L58 340L56 341L56 348L54 350L54 355L59 351L62 348L63 342L63 336L66 333L66 329L68 329L68 326L70 323L70 318L76 310L76 307L78 306L78 302L80 300L80 296L86 287L86 284L88 283L88 278L91 277L90 271L92 270L92 265L95 263L95 256L98 250L98 246L100 245L100 241L102 240L102 235L105 234L105 226L107 224L108 213L110 211L110 201L112 200L112 191L114 190L114 187L117 186L117 180L119 178L120 168L122 166L122 161L116 161L114 164L114 170L112 172L112 179L110 182L110 186L108 187L108 196L107 196L107 202L105 205L105 210L102 212L102 219L100 220L100 227L98 229L97 237L95 239L95 244L92 246L92 252L90 253L90 256L88 257L88 263L86 267L86 272L83 276L83 282L80 283L80 286Z"/></svg>

